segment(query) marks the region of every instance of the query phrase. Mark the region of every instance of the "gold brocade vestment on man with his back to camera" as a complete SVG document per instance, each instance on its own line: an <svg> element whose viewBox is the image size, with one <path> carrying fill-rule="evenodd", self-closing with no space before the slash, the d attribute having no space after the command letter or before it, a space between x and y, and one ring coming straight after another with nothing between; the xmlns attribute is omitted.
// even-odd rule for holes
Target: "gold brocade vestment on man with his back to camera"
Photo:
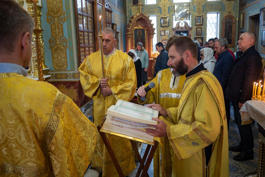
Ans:
<svg viewBox="0 0 265 177"><path fill-rule="evenodd" d="M0 73L0 176L84 176L96 127L46 82Z"/></svg>

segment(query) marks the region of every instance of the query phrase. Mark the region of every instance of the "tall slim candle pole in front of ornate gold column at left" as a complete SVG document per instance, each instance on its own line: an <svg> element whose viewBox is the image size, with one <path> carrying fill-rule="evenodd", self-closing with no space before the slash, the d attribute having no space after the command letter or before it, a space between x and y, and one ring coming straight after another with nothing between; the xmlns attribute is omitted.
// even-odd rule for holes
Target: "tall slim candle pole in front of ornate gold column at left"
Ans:
<svg viewBox="0 0 265 177"><path fill-rule="evenodd" d="M36 35L36 52L37 52L37 65L38 65L38 75L39 81L44 81L43 77L43 69L42 69L42 51L41 51L41 44L40 44L40 33L43 31L38 27L38 15L37 15L37 0L32 0L33 2L33 10L34 10L34 20L35 20L35 28L33 32Z"/></svg>

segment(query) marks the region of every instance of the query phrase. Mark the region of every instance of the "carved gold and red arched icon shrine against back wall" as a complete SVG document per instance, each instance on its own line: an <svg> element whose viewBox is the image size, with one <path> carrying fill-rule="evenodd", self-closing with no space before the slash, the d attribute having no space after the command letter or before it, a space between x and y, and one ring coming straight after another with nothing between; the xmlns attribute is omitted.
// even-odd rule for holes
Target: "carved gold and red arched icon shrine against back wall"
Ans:
<svg viewBox="0 0 265 177"><path fill-rule="evenodd" d="M150 57L151 53L153 53L154 34L155 28L153 28L153 24L146 14L138 13L133 15L126 29L126 51L135 49L136 44L142 42L143 47ZM148 78L154 76L154 60L149 60L147 75Z"/></svg>

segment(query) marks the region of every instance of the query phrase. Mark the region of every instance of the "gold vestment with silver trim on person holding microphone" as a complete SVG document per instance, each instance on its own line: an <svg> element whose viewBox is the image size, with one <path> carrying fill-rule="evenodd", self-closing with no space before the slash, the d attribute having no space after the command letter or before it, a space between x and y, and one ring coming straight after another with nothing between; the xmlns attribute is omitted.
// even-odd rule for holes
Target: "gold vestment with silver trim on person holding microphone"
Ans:
<svg viewBox="0 0 265 177"><path fill-rule="evenodd" d="M175 77L171 73L170 68L161 70L152 80L153 82L155 82L155 88L147 92L146 100L144 102L141 101L138 95L138 102L140 104L150 104L155 102L155 104L160 104L164 109L168 109L170 107L177 107L185 80L185 76ZM145 86L148 86L148 84L145 84ZM170 119L169 117L162 118L162 116L160 116L160 119L167 120L172 124L175 124L176 121L176 119ZM163 153L161 145L159 144L153 158L154 177L171 177L174 150L170 145L170 142L167 137L161 137L161 140L163 142ZM164 170L162 170L162 156ZM162 175L163 172L165 174Z"/></svg>

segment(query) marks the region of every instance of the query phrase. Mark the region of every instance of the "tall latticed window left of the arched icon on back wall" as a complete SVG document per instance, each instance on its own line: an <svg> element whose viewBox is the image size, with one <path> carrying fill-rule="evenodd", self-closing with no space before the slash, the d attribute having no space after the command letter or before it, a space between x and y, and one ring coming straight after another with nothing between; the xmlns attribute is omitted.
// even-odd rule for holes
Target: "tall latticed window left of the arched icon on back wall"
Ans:
<svg viewBox="0 0 265 177"><path fill-rule="evenodd" d="M207 13L207 40L215 37L219 38L219 20L220 14L218 12Z"/></svg>

